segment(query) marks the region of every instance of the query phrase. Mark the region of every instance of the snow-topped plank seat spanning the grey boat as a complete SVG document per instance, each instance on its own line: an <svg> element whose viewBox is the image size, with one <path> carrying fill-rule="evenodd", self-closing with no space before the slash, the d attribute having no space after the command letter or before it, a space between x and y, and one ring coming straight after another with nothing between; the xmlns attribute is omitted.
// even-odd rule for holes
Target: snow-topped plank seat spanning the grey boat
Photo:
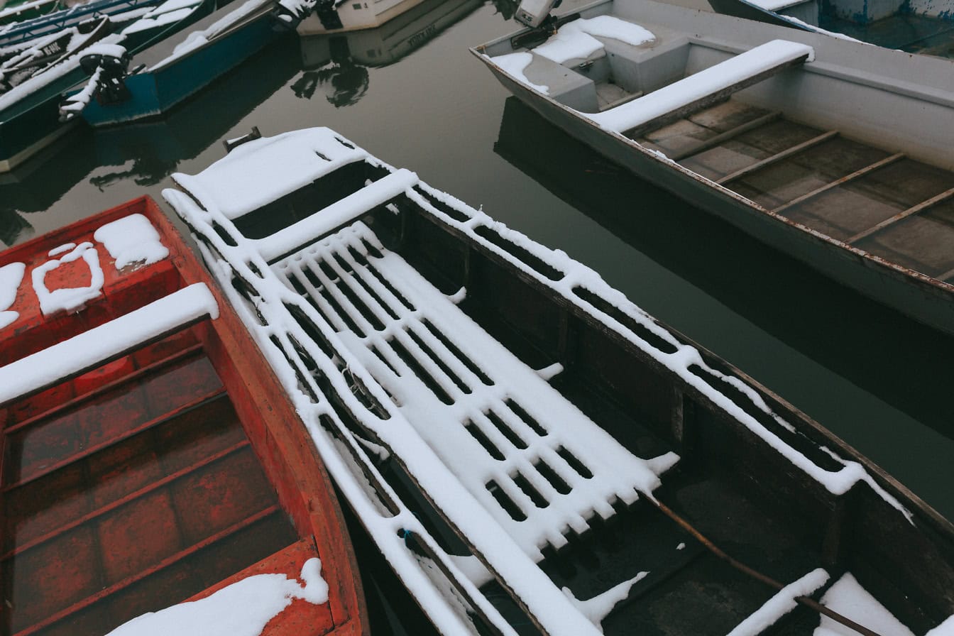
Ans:
<svg viewBox="0 0 954 636"><path fill-rule="evenodd" d="M638 133L693 113L793 65L811 62L814 55L808 45L772 40L631 102L587 116L604 130Z"/></svg>

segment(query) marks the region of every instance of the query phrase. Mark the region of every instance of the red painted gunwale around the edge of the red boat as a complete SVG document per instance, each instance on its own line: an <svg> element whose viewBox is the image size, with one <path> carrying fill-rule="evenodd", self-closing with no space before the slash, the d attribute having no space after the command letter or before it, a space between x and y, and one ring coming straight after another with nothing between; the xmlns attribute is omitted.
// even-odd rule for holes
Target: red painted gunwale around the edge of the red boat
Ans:
<svg viewBox="0 0 954 636"><path fill-rule="evenodd" d="M323 605L332 620L329 630L322 633L329 636L365 633L368 628L368 615L357 560L327 470L311 445L300 416L290 400L285 399L284 389L274 369L263 358L258 346L255 346L254 339L243 326L231 303L222 296L215 278L202 266L156 201L149 195L142 195L46 235L35 236L10 250L0 252L0 262L9 261L11 257L15 259L16 255L21 254L42 254L44 251L37 251L38 246L55 245L74 236L89 235L103 223L135 214L144 215L150 221L161 237L162 244L169 249L169 255L156 264L170 264L179 289L186 289L196 283L204 284L218 305L218 318L211 318L206 314L176 325L156 338L131 343L124 348L123 353L110 359L98 359L84 371L57 378L47 385L47 388L70 381L85 371L109 363L110 360L131 355L170 335L191 331L197 342L183 350L188 354L180 351L176 355L201 355L212 364L222 383L218 395L227 395L235 409L239 427L248 446L253 450L267 482L277 493L277 509L290 519L298 541L304 540L315 545L321 556L321 577L329 585L328 600ZM134 286L147 286L150 279L151 277L138 278ZM162 297L168 297L172 293L175 293L175 290L163 294ZM99 297L98 300L107 305L110 303L108 297ZM128 314L129 312L126 312L122 316ZM102 324L109 322L110 319L107 319ZM10 329L12 328L10 325ZM86 331L88 330L81 333ZM249 345L252 346L251 350ZM42 347L46 348L49 348L49 345ZM168 360L160 360L159 364L163 363L168 363ZM14 400L29 399L42 390L43 388L32 390L13 398L7 404L15 403ZM74 401L87 399L89 396L83 395ZM137 429L136 434L138 432ZM6 440L7 435L0 432L0 470L6 457ZM0 503L3 501L3 494L3 491L0 491ZM223 578L207 589L214 589L225 581L234 581L242 571L244 570ZM297 577L297 572L289 574ZM197 596L182 599L179 603L195 600L203 596L204 591L206 590L200 590Z"/></svg>

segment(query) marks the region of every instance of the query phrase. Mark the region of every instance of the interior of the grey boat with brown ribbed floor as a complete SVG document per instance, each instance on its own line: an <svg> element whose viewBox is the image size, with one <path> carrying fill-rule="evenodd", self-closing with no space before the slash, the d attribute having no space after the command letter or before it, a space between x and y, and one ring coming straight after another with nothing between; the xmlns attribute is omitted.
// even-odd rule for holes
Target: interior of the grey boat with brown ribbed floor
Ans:
<svg viewBox="0 0 954 636"><path fill-rule="evenodd" d="M948 165L949 154L940 146L925 152L918 142L923 134L913 131L897 135L897 144L882 142L884 147L865 141L886 126L903 127L889 124L885 113L907 113L908 105L892 102L894 96L874 86L870 95L860 92L863 78L827 83L824 72L807 72L800 60L781 57L768 70L739 73L708 94L683 99L678 95L692 93L698 73L718 71L740 55L715 41L640 24L653 31L655 41L632 46L598 38L603 50L562 65L529 49L532 60L523 72L529 83L548 87L551 99L765 210L928 277L954 282L954 166ZM525 51L512 44L500 41L482 52L494 58ZM747 53L772 54L769 47ZM823 103L821 91L843 91L833 97L842 101ZM644 101L664 94L675 95L674 107L640 118ZM876 108L883 110L843 108L844 100L869 98L873 104L881 102ZM931 99L924 97L925 102ZM949 107L944 107L946 116ZM864 128L852 118L863 120Z"/></svg>

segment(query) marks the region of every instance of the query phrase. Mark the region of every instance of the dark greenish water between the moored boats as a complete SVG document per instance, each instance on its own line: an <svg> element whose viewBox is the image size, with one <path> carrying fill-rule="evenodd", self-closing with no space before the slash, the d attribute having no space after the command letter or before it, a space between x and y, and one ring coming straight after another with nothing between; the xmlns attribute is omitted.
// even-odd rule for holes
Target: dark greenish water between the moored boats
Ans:
<svg viewBox="0 0 954 636"><path fill-rule="evenodd" d="M392 54L380 31L335 42L290 37L164 121L71 134L0 175L0 241L158 197L169 174L201 170L222 156L222 139L251 126L264 134L329 126L590 265L954 519L954 339L592 154L508 99L467 51L515 31L497 7L446 0L434 10L457 21L428 26L425 13L405 45L419 48L388 66L364 66Z"/></svg>

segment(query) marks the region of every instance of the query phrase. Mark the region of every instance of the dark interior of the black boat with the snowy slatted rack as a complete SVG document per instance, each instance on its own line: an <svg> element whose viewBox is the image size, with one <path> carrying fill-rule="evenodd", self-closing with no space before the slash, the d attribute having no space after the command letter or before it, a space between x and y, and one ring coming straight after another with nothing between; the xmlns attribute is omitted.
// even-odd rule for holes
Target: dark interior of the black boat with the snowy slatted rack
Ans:
<svg viewBox="0 0 954 636"><path fill-rule="evenodd" d="M387 174L364 161L346 164L234 225L216 217L215 236L199 237L213 250L244 249ZM368 421L387 420L386 430L401 436L404 424L388 413L404 413L508 534L526 542L550 581L575 599L632 584L602 622L608 635L728 633L776 593L721 561L676 518L785 585L815 567L831 575L829 585L850 571L915 633L954 612L954 598L918 589L927 581L934 589L944 588L940 581L954 588L949 538L937 544L919 538L925 523L934 522L920 513L908 522L863 482L832 495L716 406L714 394L694 388L696 380L822 471L842 466L822 448L840 442L767 391L754 399L740 388L744 377L705 352L686 367L692 380L676 377L659 360L684 351L685 339L467 210L414 186L335 234L300 233L301 247L269 261L274 277L305 303L286 309L311 342L293 341L282 351L298 369L300 386L311 380L328 386L325 373L350 380L374 417L341 405L332 392L327 398L340 405L355 437L378 449L368 457L440 551L474 553L454 520L430 503L420 473L408 469L413 462ZM243 297L259 295L257 279L239 276L233 284ZM343 369L336 340L361 360L390 403L371 395L369 380L354 380L360 374L353 366ZM336 361L337 372L309 353L313 346ZM533 391L524 388L531 384ZM759 407L760 400L769 407ZM612 439L599 452L584 442L607 433ZM673 467L660 469L662 485L654 491L664 506L634 497L632 486L613 486L599 453L624 458L609 471L620 474L633 458L668 465L677 454ZM370 478L366 483L384 502L380 508L393 513L386 489ZM600 496L592 494L600 489ZM569 525L568 510L576 515ZM440 569L430 561L438 561L431 544L403 536L428 570ZM512 583L484 581L480 590L517 633L540 633ZM476 604L466 606L477 633L500 633ZM807 635L818 626L819 614L798 606L758 633Z"/></svg>

